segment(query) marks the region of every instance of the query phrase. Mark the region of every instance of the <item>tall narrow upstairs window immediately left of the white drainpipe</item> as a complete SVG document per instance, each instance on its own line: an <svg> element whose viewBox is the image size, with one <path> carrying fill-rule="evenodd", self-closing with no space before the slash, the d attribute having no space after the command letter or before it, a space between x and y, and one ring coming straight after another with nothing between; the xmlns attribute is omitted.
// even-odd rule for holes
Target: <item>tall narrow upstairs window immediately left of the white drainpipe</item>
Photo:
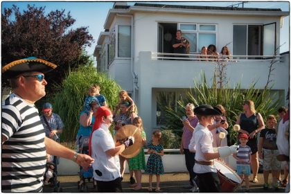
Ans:
<svg viewBox="0 0 291 194"><path fill-rule="evenodd" d="M131 27L118 26L118 58L130 58L131 45Z"/></svg>

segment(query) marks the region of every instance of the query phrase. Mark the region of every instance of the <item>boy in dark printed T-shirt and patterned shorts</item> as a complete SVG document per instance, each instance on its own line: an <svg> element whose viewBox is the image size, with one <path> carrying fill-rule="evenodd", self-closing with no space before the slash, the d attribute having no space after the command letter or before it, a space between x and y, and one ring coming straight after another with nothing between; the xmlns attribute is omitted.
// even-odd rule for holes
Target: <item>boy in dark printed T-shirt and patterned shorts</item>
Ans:
<svg viewBox="0 0 291 194"><path fill-rule="evenodd" d="M272 170L272 184L275 190L278 190L278 184L276 182L279 170L281 170L280 161L277 160L276 156L279 155L279 150L276 145L276 118L274 115L267 116L267 128L261 131L260 139L258 142L258 157L263 159L263 170L264 170L264 185L263 188L269 188L268 177L269 171ZM263 149L262 149L263 148Z"/></svg>

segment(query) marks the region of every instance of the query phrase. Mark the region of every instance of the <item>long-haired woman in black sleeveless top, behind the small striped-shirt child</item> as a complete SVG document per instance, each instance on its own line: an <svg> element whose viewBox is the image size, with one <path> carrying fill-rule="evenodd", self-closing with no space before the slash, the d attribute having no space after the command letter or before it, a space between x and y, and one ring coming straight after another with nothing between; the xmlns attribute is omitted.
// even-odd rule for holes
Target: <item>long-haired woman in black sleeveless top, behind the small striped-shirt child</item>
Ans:
<svg viewBox="0 0 291 194"><path fill-rule="evenodd" d="M265 128L263 117L256 113L254 102L252 100L245 100L243 103L243 113L237 118L236 124L240 125L239 133L244 133L249 136L247 145L252 149L251 166L253 171L252 182L258 182L258 135Z"/></svg>

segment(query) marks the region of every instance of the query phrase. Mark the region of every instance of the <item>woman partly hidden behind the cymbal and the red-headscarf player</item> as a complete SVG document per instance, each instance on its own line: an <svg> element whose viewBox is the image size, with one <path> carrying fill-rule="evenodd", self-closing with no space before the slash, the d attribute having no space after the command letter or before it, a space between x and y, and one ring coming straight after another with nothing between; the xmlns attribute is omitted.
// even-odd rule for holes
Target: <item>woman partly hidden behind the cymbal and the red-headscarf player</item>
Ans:
<svg viewBox="0 0 291 194"><path fill-rule="evenodd" d="M123 125L132 124L132 121L136 116L137 115L130 108L130 103L127 100L121 101L119 105L118 114L115 114L113 116L113 121L115 123L115 132L119 130L119 128L121 128ZM127 160L127 164L128 164L128 159L125 159L125 157L122 157L121 155L119 155L119 162L121 165L121 178L123 178L124 171L125 171L125 160ZM133 175L134 175L133 170L130 170L130 183L131 184L135 183Z"/></svg>

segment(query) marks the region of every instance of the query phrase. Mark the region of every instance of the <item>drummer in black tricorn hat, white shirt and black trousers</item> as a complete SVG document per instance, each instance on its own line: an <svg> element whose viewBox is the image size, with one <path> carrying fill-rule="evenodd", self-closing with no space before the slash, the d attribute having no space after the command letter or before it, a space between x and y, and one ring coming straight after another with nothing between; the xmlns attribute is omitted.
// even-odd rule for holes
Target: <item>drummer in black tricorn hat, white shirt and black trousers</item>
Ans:
<svg viewBox="0 0 291 194"><path fill-rule="evenodd" d="M221 115L220 109L211 105L200 105L195 107L194 113L199 123L193 132L193 138L189 144L189 150L195 152L194 172L197 174L200 192L221 192L220 180L213 159L227 157L237 152L237 146L220 147L214 152L212 147L212 134L207 128L213 124L215 115ZM207 181L206 181L207 180Z"/></svg>

